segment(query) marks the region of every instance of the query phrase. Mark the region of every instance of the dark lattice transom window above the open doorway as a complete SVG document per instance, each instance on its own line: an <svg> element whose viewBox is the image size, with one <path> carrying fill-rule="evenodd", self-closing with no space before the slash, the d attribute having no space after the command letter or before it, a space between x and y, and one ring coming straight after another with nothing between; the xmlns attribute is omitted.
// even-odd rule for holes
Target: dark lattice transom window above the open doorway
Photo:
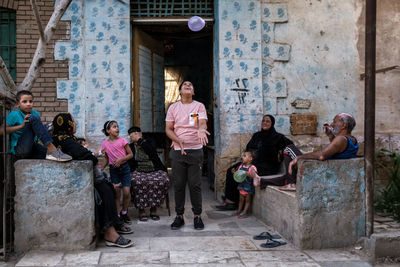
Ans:
<svg viewBox="0 0 400 267"><path fill-rule="evenodd" d="M214 17L214 0L131 0L131 16L135 17Z"/></svg>

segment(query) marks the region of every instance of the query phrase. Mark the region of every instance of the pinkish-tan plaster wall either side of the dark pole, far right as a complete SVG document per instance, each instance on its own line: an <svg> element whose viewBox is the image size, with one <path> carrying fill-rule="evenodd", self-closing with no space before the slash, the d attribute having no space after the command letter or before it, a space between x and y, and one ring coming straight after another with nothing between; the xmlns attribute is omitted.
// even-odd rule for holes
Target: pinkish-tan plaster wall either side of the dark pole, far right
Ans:
<svg viewBox="0 0 400 267"><path fill-rule="evenodd" d="M362 9L357 22L359 38L357 48L360 57L359 73L365 65L365 3L358 1ZM376 69L400 65L400 1L377 2ZM358 81L356 134L364 130L364 80ZM400 70L376 74L376 147L400 151Z"/></svg>

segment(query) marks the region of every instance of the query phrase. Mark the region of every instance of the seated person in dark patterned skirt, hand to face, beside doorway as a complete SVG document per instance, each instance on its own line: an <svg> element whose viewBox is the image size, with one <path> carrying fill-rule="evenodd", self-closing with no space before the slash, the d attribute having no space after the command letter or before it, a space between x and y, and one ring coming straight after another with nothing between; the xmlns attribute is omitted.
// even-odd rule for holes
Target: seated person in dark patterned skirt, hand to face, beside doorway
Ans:
<svg viewBox="0 0 400 267"><path fill-rule="evenodd" d="M131 168L131 192L135 207L139 209L139 220L148 220L145 208L150 208L150 218L157 221L160 219L157 208L168 193L167 168L158 157L155 144L143 138L139 127L131 127L128 134L132 141L129 146L133 152L133 158L128 161Z"/></svg>

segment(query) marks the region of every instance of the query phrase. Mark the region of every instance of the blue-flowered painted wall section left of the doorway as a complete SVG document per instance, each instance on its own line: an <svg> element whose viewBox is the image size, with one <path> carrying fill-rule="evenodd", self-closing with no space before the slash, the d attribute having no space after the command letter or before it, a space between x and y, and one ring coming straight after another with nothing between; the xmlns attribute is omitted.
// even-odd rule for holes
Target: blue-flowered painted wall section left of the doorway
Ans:
<svg viewBox="0 0 400 267"><path fill-rule="evenodd" d="M57 97L68 99L77 135L104 138L107 120L127 136L130 108L129 4L118 0L73 0L63 20L71 21L71 40L55 44L56 60L68 59L69 79L57 82Z"/></svg>

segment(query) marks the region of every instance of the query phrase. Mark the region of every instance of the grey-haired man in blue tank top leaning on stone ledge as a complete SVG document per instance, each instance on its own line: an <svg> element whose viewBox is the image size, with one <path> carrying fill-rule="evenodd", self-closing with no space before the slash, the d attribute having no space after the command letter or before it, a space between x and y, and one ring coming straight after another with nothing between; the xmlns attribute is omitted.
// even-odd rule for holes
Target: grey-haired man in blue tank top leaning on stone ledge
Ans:
<svg viewBox="0 0 400 267"><path fill-rule="evenodd" d="M329 137L330 144L322 151L307 153L297 156L289 164L289 173L297 166L299 159L350 159L355 158L358 151L357 139L351 135L356 126L353 116L347 113L339 113L331 124L324 123L323 129ZM295 188L295 184L291 184Z"/></svg>

